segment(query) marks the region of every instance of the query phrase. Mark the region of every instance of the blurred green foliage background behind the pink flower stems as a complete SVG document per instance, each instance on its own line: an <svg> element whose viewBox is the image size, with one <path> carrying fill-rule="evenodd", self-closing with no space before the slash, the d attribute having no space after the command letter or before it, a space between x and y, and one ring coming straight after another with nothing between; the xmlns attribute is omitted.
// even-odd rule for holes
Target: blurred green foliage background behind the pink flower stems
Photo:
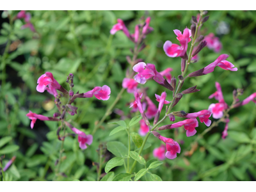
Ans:
<svg viewBox="0 0 256 192"><path fill-rule="evenodd" d="M180 58L169 58L163 51L163 44L170 40L179 44L173 29L183 31L191 26L191 16L198 11L28 11L31 23L35 26L33 33L29 28L21 30L23 19L14 20L10 26L6 13L2 12L0 35L0 155L6 154L3 164L12 156L17 156L15 163L6 172L10 180L52 180L54 162L58 159L61 141L57 139L58 122L36 121L33 130L30 120L26 117L29 110L45 116L57 112L54 97L47 92L36 92L36 81L45 72L52 72L54 78L65 88L69 73L74 74L74 92L87 92L95 86L108 85L111 97L107 101L77 99L79 107L72 120L77 129L91 134L95 122L104 115L122 89L125 71L129 68L125 56L132 56L129 49L134 44L122 33L110 35L109 31L116 19L124 20L130 33L134 33L136 24L143 23L151 17L150 26L154 31L147 35L147 47L139 54L145 63L156 65L157 71L167 67L173 68L172 76L180 74ZM12 17L18 11L12 12ZM228 61L238 68L237 72L216 67L207 76L189 78L184 88L197 85L200 92L184 95L174 111L184 110L194 113L208 109L214 99L209 95L216 91L215 81L221 84L225 101L232 103L232 91L244 88L241 100L256 92L256 12L255 11L209 11L209 20L200 29L202 35L214 33L220 38L223 49L216 53L205 47L199 54L198 62L189 65L188 72L198 70L212 63L220 54L229 54ZM144 19L141 19L143 17ZM3 54L6 42L12 40L11 48L6 55L6 75L3 71ZM190 47L190 44L189 44ZM155 81L148 81L147 94L158 105L154 94L164 91ZM172 100L172 93L166 91L167 99ZM126 90L115 109L129 114L129 102L134 96ZM139 115L139 113L136 113ZM162 116L164 112L162 111ZM180 143L181 153L176 159L165 159L164 164L152 173L163 180L256 180L256 108L253 102L230 111L228 136L221 138L225 124L208 132L198 143L194 154L181 156L189 150L196 136L186 137L184 129L164 131L163 136L175 138ZM135 115L134 115L135 116ZM118 132L109 136L114 125L107 122L118 120L119 115L112 113L93 136L93 143L86 150L81 150L77 138L66 138L64 147L65 161L61 163L61 172L67 177L61 180L96 180L99 162L97 149L108 141L121 141L127 146L126 132ZM212 117L210 118L214 120ZM169 124L168 120L165 124ZM164 124L163 124L164 125ZM132 127L138 132L139 124ZM199 124L197 134L206 129ZM182 142L180 142L182 140ZM148 161L155 159L152 150L159 147L161 141L153 136L148 139L150 147L145 149L143 157ZM19 146L19 147L18 147ZM132 146L134 148L134 145ZM106 152L106 162L113 155ZM153 160L152 160L153 161ZM151 162L152 162L151 161ZM94 163L93 163L94 162ZM104 163L104 165L106 164ZM143 166L137 164L136 170ZM123 167L114 169L115 173L125 172ZM102 168L104 173L104 166ZM150 180L146 174L140 180Z"/></svg>

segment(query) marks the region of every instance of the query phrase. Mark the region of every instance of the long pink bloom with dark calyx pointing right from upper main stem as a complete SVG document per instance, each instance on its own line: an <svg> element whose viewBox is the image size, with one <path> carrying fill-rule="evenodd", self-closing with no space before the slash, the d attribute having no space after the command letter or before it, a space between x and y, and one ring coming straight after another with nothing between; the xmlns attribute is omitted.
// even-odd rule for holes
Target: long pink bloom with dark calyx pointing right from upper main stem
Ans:
<svg viewBox="0 0 256 192"><path fill-rule="evenodd" d="M232 63L230 63L229 61L226 61L227 58L228 58L228 54L221 54L214 62L212 62L211 64L207 65L204 68L201 68L200 70L196 70L195 72L188 74L188 76L189 77L204 76L205 74L209 74L213 72L216 66L219 66L225 70L237 71L237 68Z"/></svg>

